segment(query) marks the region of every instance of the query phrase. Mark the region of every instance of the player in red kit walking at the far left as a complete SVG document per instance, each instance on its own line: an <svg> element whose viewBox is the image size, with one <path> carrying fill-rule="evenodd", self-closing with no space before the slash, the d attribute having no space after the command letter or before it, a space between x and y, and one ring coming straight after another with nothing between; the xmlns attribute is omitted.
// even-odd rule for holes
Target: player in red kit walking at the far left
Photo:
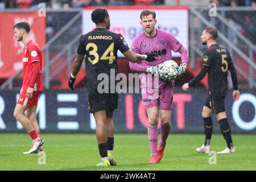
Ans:
<svg viewBox="0 0 256 182"><path fill-rule="evenodd" d="M24 44L22 53L23 84L19 100L14 109L14 117L22 124L32 138L29 151L23 154L42 151L44 141L39 137L39 126L36 121L36 107L40 93L43 91L42 53L37 43L30 39L30 24L20 22L14 26L14 36ZM26 116L24 112L27 111Z"/></svg>

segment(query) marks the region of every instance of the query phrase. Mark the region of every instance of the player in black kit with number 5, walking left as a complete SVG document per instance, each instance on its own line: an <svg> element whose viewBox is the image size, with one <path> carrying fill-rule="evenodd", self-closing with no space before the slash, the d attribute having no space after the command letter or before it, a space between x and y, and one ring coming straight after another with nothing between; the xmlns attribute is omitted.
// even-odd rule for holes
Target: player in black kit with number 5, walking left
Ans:
<svg viewBox="0 0 256 182"><path fill-rule="evenodd" d="M203 107L202 117L204 118L205 143L202 147L196 148L197 152L210 152L210 139L212 137L212 118L210 114L216 114L220 123L221 133L224 136L228 147L217 154L233 154L236 152L234 147L231 131L225 112L224 99L228 94L228 70L231 73L233 82L233 98L239 100L240 92L237 84L237 73L232 62L232 58L225 47L216 43L218 31L215 27L207 27L201 35L202 44L207 45L207 50L203 55L203 64L199 75L182 86L183 90L188 90L190 86L195 85L202 80L208 73L209 97Z"/></svg>

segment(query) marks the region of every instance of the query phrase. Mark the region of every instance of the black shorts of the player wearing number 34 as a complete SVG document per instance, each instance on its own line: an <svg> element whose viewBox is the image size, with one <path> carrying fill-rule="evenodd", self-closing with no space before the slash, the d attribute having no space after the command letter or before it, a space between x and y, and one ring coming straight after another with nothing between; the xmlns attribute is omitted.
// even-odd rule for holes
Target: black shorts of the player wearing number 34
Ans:
<svg viewBox="0 0 256 182"><path fill-rule="evenodd" d="M100 110L114 111L118 106L118 93L98 93L97 90L89 90L87 93L90 113Z"/></svg>

